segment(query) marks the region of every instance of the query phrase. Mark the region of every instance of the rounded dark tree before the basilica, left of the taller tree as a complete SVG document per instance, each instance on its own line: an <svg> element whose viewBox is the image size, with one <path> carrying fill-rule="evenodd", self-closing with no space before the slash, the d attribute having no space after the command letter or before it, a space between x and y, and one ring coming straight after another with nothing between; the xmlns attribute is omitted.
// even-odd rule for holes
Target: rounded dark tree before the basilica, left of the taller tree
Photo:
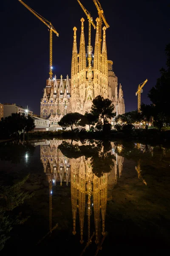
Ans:
<svg viewBox="0 0 170 256"><path fill-rule="evenodd" d="M62 117L62 119L58 122L58 124L62 127L71 127L71 131L73 131L73 125L78 126L79 120L82 115L80 113L68 113Z"/></svg>

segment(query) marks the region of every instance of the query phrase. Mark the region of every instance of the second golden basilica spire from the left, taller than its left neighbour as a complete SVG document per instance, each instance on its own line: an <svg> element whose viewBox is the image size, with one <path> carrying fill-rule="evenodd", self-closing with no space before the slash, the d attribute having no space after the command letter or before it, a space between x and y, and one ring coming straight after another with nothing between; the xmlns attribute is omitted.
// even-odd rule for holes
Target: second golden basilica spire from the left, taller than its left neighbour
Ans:
<svg viewBox="0 0 170 256"><path fill-rule="evenodd" d="M79 47L79 72L85 71L86 60L85 60L85 35L84 35L84 19L81 18L82 30L80 36L80 47Z"/></svg>

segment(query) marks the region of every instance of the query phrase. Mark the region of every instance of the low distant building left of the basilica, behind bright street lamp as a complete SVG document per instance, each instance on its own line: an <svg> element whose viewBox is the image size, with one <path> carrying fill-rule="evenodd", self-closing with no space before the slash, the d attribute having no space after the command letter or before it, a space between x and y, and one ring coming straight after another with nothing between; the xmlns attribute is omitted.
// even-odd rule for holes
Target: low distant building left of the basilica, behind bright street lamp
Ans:
<svg viewBox="0 0 170 256"><path fill-rule="evenodd" d="M26 115L33 115L33 111L30 111L26 108L23 108L21 106L17 106L14 104L5 103L3 105L3 117L10 116L11 113L25 113Z"/></svg>

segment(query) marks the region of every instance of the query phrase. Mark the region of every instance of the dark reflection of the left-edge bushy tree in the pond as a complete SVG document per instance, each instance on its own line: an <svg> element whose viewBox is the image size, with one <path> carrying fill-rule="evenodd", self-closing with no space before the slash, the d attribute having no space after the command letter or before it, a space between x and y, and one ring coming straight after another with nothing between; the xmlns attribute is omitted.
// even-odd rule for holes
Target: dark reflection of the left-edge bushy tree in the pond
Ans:
<svg viewBox="0 0 170 256"><path fill-rule="evenodd" d="M11 161L11 163L20 163L20 160L26 153L33 155L34 146L22 140L14 140L7 143L1 143L0 160Z"/></svg>

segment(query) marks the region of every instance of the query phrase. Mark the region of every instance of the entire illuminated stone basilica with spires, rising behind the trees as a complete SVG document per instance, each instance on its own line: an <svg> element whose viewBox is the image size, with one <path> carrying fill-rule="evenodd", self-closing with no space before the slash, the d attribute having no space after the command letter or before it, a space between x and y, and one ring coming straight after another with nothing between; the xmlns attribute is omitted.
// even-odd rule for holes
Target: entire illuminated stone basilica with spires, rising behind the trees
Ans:
<svg viewBox="0 0 170 256"><path fill-rule="evenodd" d="M96 39L93 48L85 51L84 19L81 19L79 53L77 51L77 28L74 27L71 61L71 79L48 79L41 99L40 116L53 124L70 112L85 114L91 110L93 99L101 95L113 102L116 114L125 113L122 85L112 70L113 61L108 60L106 27L100 39L99 18L96 19Z"/></svg>

